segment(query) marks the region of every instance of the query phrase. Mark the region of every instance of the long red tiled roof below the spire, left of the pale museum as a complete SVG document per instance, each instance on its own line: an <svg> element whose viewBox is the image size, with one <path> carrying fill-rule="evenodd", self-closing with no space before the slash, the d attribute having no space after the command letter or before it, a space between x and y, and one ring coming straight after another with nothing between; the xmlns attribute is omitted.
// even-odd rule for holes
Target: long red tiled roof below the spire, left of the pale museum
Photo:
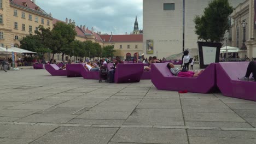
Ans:
<svg viewBox="0 0 256 144"><path fill-rule="evenodd" d="M143 41L142 34L125 34L125 35L101 35L104 42L132 42Z"/></svg>

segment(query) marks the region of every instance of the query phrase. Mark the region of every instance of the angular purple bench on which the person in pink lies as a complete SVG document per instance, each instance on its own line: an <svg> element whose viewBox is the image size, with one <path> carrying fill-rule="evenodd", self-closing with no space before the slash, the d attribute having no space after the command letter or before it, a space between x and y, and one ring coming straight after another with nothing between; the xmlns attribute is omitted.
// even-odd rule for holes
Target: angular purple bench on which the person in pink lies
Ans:
<svg viewBox="0 0 256 144"><path fill-rule="evenodd" d="M167 91L184 91L193 93L210 93L216 88L216 64L210 64L198 77L173 76L167 63L151 65L151 80L156 88Z"/></svg>

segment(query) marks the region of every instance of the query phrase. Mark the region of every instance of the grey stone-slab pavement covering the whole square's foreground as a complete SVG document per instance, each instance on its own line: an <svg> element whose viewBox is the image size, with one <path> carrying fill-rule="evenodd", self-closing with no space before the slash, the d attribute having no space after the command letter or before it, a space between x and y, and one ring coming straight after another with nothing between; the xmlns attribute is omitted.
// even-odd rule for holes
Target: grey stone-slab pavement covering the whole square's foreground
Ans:
<svg viewBox="0 0 256 144"><path fill-rule="evenodd" d="M0 71L0 143L256 143L256 102Z"/></svg>

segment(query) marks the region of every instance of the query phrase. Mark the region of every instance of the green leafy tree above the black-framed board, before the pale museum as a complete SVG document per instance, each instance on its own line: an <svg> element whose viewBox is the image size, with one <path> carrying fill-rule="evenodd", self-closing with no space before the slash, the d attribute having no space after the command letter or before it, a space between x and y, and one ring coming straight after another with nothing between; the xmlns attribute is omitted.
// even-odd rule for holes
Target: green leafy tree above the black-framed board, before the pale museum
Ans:
<svg viewBox="0 0 256 144"><path fill-rule="evenodd" d="M221 43L224 34L230 28L229 15L233 12L228 0L213 0L203 11L202 16L196 16L195 33L198 39Z"/></svg>

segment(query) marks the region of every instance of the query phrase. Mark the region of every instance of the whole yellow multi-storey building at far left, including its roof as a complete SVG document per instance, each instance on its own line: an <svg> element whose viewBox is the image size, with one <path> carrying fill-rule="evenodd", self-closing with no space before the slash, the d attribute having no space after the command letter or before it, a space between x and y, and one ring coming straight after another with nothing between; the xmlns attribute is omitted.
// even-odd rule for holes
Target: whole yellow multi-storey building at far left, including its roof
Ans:
<svg viewBox="0 0 256 144"><path fill-rule="evenodd" d="M53 28L53 17L30 0L0 0L0 46L19 47L38 26Z"/></svg>

